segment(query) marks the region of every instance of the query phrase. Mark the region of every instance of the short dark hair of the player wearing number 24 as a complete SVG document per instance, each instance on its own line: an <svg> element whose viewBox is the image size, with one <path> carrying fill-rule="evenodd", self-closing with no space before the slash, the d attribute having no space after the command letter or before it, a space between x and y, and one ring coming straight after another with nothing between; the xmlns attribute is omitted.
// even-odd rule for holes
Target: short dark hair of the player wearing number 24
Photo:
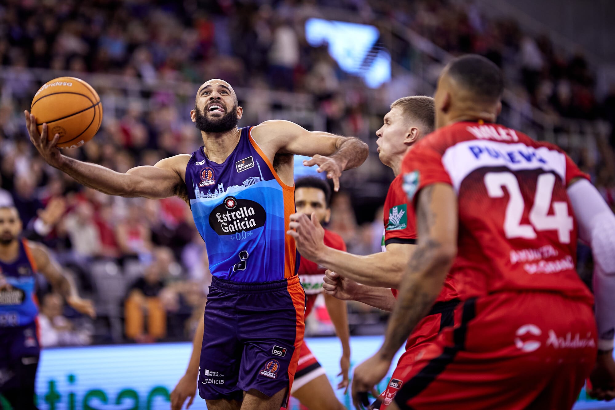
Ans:
<svg viewBox="0 0 615 410"><path fill-rule="evenodd" d="M477 100L494 103L502 98L502 71L482 55L468 54L455 58L448 64L448 75L472 92Z"/></svg>

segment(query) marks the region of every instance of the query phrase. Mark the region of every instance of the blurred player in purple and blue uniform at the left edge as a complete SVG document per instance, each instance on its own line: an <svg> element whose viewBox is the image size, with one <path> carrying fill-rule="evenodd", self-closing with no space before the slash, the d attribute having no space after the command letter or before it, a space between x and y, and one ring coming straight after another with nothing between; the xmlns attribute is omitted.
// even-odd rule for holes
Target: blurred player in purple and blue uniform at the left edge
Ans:
<svg viewBox="0 0 615 410"><path fill-rule="evenodd" d="M32 410L38 340L36 273L42 274L73 309L94 317L92 302L79 298L73 283L40 243L20 239L15 207L0 207L0 394L15 410ZM0 409L2 404L0 403Z"/></svg>

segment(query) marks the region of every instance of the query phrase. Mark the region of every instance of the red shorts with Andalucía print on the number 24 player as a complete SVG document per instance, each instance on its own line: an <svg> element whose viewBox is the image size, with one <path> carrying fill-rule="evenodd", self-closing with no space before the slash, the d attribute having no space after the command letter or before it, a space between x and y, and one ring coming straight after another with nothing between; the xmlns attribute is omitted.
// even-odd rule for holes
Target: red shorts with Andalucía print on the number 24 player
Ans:
<svg viewBox="0 0 615 410"><path fill-rule="evenodd" d="M570 409L596 358L592 307L555 293L469 299L424 345L401 409Z"/></svg>

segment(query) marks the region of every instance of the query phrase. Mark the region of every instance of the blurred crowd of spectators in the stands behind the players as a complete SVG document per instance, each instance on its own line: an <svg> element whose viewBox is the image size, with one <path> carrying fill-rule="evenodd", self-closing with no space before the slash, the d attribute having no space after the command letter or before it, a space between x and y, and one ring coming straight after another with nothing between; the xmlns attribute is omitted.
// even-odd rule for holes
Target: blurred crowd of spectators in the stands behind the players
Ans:
<svg viewBox="0 0 615 410"><path fill-rule="evenodd" d="M308 93L328 132L359 136L374 146L388 104L413 93L402 71L415 73L420 66L422 79L433 85L442 61L399 36L383 35L379 42L391 51L394 78L368 90L358 77L339 69L326 46L306 42L306 18L327 18L340 9L381 33L402 25L453 55L486 55L502 67L507 87L526 104L528 115L539 109L555 120L601 119L615 130L615 88L598 100L595 74L582 55L562 52L547 36L523 33L514 21L485 18L468 1L4 1L0 69L11 70L0 74L0 203L15 204L26 237L49 246L101 308L97 321L87 323L63 307L57 295L46 294L48 286L41 283L41 315L44 328L51 329L44 344L188 339L202 315L209 273L205 244L181 200L109 197L44 164L23 119L42 84L31 68L48 69L46 81L65 70L77 76L117 74L145 85L198 85L222 78L250 90L238 96L245 109L243 125L271 111L267 90ZM104 103L117 90L98 92ZM182 99L172 89L141 90L139 97L149 105L105 111L94 140L65 153L124 172L200 145L189 122L191 98ZM610 145L600 152L571 154L615 208L615 133L610 135ZM379 205L392 173L375 152L370 157L347 173L332 203L330 229L343 236L352 253L378 251L381 241ZM121 278L113 282L113 298L102 291L110 277ZM109 301L117 310L105 308ZM369 331L370 325L378 328L384 317L351 307L354 334ZM114 336L117 318L122 330Z"/></svg>

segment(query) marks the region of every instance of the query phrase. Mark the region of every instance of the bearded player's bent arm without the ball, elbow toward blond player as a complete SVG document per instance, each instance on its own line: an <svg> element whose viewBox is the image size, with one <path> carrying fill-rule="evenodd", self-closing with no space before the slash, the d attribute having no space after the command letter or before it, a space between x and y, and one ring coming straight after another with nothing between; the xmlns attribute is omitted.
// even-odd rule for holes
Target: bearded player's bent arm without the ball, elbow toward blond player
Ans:
<svg viewBox="0 0 615 410"><path fill-rule="evenodd" d="M318 165L319 172L333 179L335 191L339 189L342 171L359 167L369 154L367 144L359 138L308 131L286 120L269 120L256 125L252 128L252 136L257 141L266 139L280 154L311 156L304 165Z"/></svg>

